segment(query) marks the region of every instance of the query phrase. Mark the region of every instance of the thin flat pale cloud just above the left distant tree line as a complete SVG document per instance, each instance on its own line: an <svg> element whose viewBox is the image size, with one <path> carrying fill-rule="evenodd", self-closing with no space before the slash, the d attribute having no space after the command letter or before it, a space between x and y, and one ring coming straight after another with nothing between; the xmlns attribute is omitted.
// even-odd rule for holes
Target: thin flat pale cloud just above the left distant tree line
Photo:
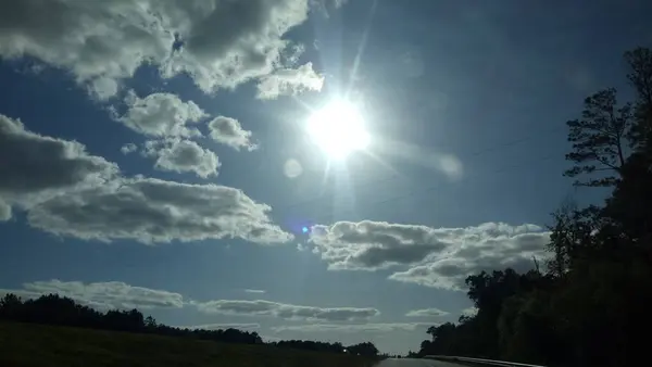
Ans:
<svg viewBox="0 0 652 367"><path fill-rule="evenodd" d="M25 299L43 294L67 296L82 304L99 308L180 308L184 298L179 293L134 287L121 281L91 282L47 280L24 283L22 289L0 290Z"/></svg>

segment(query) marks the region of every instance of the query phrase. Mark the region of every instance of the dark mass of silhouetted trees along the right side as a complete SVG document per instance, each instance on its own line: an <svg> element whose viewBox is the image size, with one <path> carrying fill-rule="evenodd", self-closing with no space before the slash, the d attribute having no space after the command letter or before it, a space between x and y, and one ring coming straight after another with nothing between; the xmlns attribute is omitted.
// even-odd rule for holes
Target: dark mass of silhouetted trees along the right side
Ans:
<svg viewBox="0 0 652 367"><path fill-rule="evenodd" d="M652 51L624 54L634 99L616 89L567 122L577 187L605 188L601 205L566 201L552 214L543 269L466 278L472 317L430 327L418 355L549 366L636 366L652 330ZM629 92L629 91L628 91ZM630 93L628 93L630 94Z"/></svg>

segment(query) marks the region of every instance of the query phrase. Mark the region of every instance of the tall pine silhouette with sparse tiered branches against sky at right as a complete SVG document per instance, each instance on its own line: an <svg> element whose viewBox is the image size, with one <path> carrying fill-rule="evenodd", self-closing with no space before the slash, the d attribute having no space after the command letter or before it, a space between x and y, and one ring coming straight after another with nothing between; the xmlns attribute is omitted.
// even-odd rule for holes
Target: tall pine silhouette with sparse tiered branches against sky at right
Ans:
<svg viewBox="0 0 652 367"><path fill-rule="evenodd" d="M602 173L576 186L613 187L619 179L627 159L626 148L631 136L634 118L629 103L618 107L614 88L601 90L585 99L580 119L568 125L568 141L573 150L566 160L575 163L564 175L577 177L582 174Z"/></svg>

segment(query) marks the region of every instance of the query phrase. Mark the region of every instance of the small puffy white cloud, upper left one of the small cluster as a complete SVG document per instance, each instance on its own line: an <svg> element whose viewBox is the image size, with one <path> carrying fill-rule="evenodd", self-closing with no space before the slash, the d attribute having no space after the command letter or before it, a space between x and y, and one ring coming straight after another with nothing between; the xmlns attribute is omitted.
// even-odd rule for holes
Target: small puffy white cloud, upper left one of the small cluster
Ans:
<svg viewBox="0 0 652 367"><path fill-rule="evenodd" d="M201 132L189 126L209 115L195 102L181 101L170 93L153 93L138 98L129 91L125 98L126 113L117 117L130 129L153 137L197 137Z"/></svg>

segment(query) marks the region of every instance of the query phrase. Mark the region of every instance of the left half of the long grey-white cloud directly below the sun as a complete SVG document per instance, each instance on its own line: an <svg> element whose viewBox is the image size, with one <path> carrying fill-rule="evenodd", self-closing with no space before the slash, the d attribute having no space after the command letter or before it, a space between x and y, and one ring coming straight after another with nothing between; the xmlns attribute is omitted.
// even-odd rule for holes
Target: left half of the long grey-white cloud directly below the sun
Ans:
<svg viewBox="0 0 652 367"><path fill-rule="evenodd" d="M330 269L352 270L418 263L448 245L430 227L371 220L313 226L310 241Z"/></svg>

